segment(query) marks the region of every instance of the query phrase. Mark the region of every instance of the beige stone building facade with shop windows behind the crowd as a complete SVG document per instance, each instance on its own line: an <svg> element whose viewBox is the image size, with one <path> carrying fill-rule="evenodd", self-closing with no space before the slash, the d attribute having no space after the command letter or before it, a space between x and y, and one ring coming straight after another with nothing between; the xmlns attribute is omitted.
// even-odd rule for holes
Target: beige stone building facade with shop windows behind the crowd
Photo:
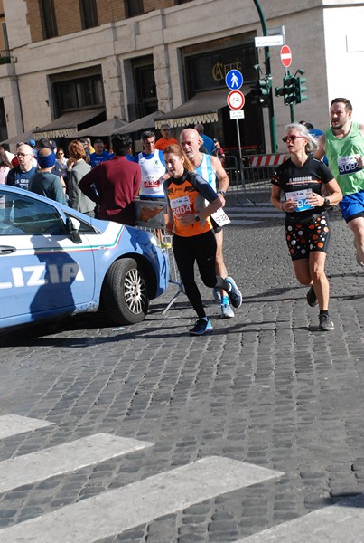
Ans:
<svg viewBox="0 0 364 543"><path fill-rule="evenodd" d="M268 29L285 28L290 70L307 77L309 98L295 107L295 119L325 128L330 100L347 96L364 120L355 78L364 60L362 2L259 4ZM177 135L202 119L211 137L234 147L236 121L229 119L224 80L237 68L246 96L241 144L270 150L268 110L251 92L259 73L253 66L264 73L266 53L255 47L262 25L253 0L4 0L4 17L11 62L0 64L0 128L8 138L28 132L70 137L100 120L132 121L159 110L178 119ZM285 74L280 47L270 47L270 62L275 88ZM279 142L290 110L282 98L274 99L274 108Z"/></svg>

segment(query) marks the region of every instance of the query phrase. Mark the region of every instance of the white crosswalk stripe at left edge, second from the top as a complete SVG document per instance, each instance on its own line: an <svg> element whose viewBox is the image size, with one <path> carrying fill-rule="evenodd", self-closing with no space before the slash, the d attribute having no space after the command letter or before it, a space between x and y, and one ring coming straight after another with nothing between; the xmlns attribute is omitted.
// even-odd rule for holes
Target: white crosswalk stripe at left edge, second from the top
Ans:
<svg viewBox="0 0 364 543"><path fill-rule="evenodd" d="M0 492L43 481L61 473L73 472L116 456L151 447L153 444L108 433L96 433L70 443L16 456L0 462Z"/></svg>

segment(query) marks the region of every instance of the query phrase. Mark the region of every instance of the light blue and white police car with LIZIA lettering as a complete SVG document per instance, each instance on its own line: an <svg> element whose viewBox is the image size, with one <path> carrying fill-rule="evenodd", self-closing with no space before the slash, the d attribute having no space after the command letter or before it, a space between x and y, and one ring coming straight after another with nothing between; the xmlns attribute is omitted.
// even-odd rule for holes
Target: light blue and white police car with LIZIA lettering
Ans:
<svg viewBox="0 0 364 543"><path fill-rule="evenodd" d="M168 281L151 233L0 185L0 328L100 307L133 324Z"/></svg>

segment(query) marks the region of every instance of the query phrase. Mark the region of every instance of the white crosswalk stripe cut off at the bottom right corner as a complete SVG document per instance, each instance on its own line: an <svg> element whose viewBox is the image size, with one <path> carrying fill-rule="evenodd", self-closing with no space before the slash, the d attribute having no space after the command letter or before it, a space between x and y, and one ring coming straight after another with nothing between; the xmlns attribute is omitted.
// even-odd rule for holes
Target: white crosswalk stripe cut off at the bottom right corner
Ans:
<svg viewBox="0 0 364 543"><path fill-rule="evenodd" d="M1 532L0 532L1 533ZM360 543L364 541L364 494L289 520L235 543Z"/></svg>

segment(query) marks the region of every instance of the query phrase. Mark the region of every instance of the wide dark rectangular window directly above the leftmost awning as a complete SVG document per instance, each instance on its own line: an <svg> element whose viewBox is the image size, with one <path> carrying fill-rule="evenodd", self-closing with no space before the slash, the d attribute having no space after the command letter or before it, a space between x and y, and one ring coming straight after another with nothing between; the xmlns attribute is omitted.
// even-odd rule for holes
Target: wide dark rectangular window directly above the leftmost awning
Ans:
<svg viewBox="0 0 364 543"><path fill-rule="evenodd" d="M58 116L66 111L96 108L105 104L101 75L53 83Z"/></svg>

